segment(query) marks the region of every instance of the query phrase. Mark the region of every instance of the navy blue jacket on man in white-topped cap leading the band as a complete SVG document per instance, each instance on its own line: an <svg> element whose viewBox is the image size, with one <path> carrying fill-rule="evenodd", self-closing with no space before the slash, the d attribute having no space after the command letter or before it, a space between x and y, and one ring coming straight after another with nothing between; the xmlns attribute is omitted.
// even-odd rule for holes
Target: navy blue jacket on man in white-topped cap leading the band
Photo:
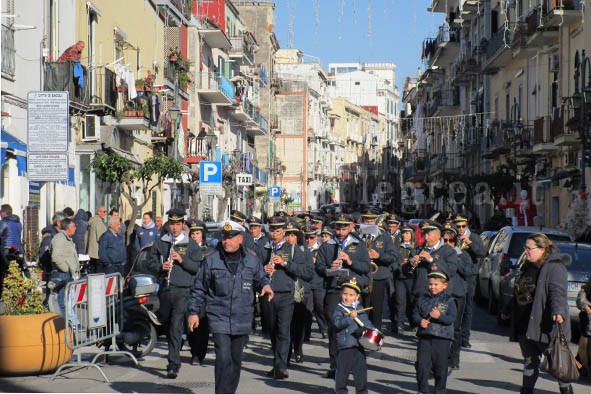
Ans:
<svg viewBox="0 0 591 394"><path fill-rule="evenodd" d="M269 284L255 253L241 248L236 273L228 268L219 245L206 256L195 278L187 304L189 315L200 315L203 302L214 334L247 335L252 330L254 290Z"/></svg>

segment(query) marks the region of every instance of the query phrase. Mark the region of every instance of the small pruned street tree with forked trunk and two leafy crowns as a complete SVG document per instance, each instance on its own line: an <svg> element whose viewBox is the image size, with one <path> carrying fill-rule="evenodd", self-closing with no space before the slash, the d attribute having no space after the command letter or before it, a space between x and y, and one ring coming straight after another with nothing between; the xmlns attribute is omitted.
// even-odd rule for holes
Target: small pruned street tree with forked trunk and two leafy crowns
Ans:
<svg viewBox="0 0 591 394"><path fill-rule="evenodd" d="M131 160L107 151L92 159L90 167L98 179L108 183L119 183L121 195L131 205L131 217L135 218L146 204L152 191L162 185L164 179L180 179L183 165L176 159L164 154L157 154L136 166ZM138 202L134 187L139 184L142 191L142 202ZM134 226L127 227L127 239L131 238Z"/></svg>

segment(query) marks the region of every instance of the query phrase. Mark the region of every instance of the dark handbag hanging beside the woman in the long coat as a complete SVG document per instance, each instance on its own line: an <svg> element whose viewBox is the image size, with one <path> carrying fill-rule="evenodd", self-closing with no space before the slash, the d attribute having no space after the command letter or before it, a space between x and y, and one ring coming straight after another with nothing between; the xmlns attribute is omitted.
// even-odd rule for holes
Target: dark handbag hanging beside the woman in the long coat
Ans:
<svg viewBox="0 0 591 394"><path fill-rule="evenodd" d="M568 347L568 340L562 331L562 325L555 323L550 345L544 351L542 368L564 383L579 379L579 369L575 357Z"/></svg>

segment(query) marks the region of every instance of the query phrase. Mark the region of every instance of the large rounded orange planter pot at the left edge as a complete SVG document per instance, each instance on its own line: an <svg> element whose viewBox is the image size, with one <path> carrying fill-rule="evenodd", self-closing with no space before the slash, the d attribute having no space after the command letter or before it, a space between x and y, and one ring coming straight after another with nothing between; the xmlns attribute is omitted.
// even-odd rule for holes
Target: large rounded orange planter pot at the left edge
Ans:
<svg viewBox="0 0 591 394"><path fill-rule="evenodd" d="M0 316L0 375L55 371L72 356L65 335L66 322L55 313Z"/></svg>

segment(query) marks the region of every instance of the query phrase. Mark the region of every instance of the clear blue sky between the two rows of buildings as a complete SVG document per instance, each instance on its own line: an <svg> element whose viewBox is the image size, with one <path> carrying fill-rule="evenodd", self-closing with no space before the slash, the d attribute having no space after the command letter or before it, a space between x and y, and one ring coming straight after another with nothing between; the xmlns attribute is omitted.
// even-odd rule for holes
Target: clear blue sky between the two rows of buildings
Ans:
<svg viewBox="0 0 591 394"><path fill-rule="evenodd" d="M421 45L435 37L444 14L427 11L431 0L275 0L275 35L281 48L297 48L326 71L335 62L397 66L402 94L415 78ZM371 13L368 12L371 9ZM369 23L371 21L371 24Z"/></svg>

